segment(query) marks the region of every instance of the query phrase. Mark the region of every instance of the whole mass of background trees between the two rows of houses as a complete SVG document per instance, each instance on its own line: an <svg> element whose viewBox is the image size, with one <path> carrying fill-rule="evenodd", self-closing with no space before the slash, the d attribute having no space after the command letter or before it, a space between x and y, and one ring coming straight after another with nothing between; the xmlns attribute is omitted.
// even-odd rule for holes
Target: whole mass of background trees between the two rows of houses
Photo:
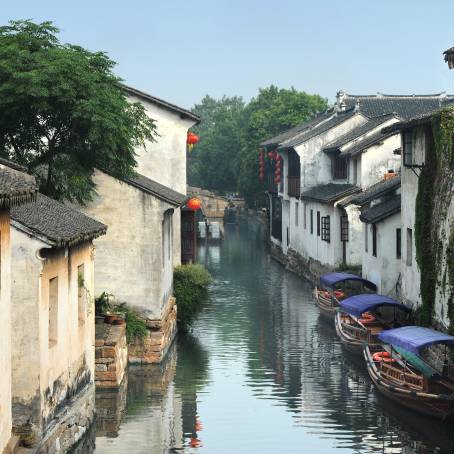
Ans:
<svg viewBox="0 0 454 454"><path fill-rule="evenodd" d="M202 122L200 144L189 160L189 182L219 192L239 192L250 206L260 204L259 144L327 108L326 99L294 88L260 89L248 104L239 97L205 96L194 111Z"/></svg>

